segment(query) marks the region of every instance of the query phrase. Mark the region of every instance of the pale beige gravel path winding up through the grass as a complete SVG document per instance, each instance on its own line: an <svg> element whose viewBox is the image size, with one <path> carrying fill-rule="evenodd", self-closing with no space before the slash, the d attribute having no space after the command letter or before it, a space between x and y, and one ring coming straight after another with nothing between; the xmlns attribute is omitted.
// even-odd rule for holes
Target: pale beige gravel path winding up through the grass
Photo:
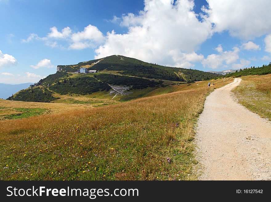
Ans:
<svg viewBox="0 0 271 202"><path fill-rule="evenodd" d="M234 79L214 90L198 120L199 180L271 180L271 124L237 103Z"/></svg>

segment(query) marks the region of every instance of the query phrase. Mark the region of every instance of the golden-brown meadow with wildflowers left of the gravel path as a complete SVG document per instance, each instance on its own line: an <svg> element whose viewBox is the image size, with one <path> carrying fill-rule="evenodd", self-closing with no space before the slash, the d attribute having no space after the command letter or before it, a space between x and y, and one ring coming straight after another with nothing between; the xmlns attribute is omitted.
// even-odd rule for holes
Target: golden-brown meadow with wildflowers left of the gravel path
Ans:
<svg viewBox="0 0 271 202"><path fill-rule="evenodd" d="M230 83L216 81L216 87ZM206 84L205 84L206 83ZM1 180L188 180L193 126L212 90L0 122Z"/></svg>

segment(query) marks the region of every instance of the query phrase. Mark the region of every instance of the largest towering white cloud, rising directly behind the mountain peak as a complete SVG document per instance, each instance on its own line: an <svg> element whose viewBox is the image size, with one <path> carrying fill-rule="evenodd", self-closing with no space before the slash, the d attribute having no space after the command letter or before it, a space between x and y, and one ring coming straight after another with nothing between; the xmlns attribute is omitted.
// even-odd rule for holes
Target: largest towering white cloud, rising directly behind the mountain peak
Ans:
<svg viewBox="0 0 271 202"><path fill-rule="evenodd" d="M203 59L195 50L212 35L211 23L199 21L193 8L194 2L188 0L145 1L138 15L122 16L121 25L128 32L108 32L95 58L119 54L163 65L193 66L192 61Z"/></svg>

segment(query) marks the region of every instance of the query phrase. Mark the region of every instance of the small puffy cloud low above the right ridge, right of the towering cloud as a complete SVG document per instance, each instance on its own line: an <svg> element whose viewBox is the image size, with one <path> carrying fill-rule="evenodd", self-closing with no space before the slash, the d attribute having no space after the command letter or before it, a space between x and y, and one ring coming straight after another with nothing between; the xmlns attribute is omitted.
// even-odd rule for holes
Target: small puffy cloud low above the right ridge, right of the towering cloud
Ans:
<svg viewBox="0 0 271 202"><path fill-rule="evenodd" d="M217 69L218 67L227 67L229 64L236 62L239 59L240 49L238 47L233 47L232 51L223 51L221 44L219 44L215 50L219 54L208 55L201 64L204 67Z"/></svg>

